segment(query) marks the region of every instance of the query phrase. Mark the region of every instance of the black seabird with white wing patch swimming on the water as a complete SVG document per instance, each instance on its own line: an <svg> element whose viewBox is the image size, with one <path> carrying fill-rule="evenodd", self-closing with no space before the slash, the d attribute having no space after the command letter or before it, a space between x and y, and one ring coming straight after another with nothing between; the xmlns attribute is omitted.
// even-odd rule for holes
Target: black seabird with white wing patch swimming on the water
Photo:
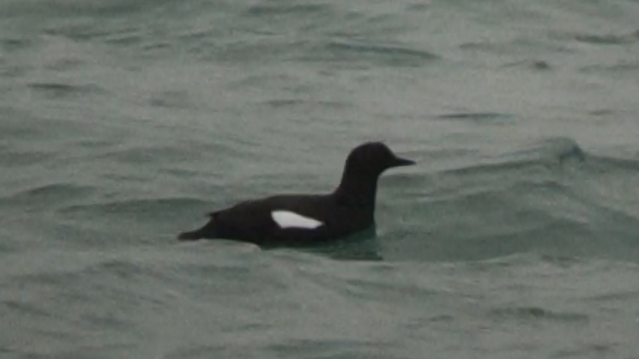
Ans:
<svg viewBox="0 0 639 359"><path fill-rule="evenodd" d="M326 243L374 225L377 182L392 167L414 165L383 142L366 142L346 158L339 186L328 194L282 194L244 201L209 214L182 241L227 239L259 246L304 247Z"/></svg>

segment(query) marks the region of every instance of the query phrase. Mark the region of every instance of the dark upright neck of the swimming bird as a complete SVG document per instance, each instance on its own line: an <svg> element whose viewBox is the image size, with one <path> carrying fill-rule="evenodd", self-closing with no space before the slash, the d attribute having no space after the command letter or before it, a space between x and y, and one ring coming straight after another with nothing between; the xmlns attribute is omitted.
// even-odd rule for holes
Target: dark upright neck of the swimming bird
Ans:
<svg viewBox="0 0 639 359"><path fill-rule="evenodd" d="M362 174L353 173L346 169L339 187L334 192L337 201L350 206L368 208L373 215L377 179L378 176L362 176Z"/></svg>

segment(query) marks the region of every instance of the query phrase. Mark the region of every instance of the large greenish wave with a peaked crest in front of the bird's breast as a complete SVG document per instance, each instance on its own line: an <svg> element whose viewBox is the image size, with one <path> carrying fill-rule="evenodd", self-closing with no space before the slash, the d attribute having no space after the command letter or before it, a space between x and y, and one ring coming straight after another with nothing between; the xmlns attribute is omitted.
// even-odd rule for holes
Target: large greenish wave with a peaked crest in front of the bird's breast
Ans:
<svg viewBox="0 0 639 359"><path fill-rule="evenodd" d="M636 178L638 165L557 138L413 179L406 187L424 189L411 192L417 201L392 200L401 225L383 227L381 256L450 261L539 252L639 261L639 192L621 180Z"/></svg>

